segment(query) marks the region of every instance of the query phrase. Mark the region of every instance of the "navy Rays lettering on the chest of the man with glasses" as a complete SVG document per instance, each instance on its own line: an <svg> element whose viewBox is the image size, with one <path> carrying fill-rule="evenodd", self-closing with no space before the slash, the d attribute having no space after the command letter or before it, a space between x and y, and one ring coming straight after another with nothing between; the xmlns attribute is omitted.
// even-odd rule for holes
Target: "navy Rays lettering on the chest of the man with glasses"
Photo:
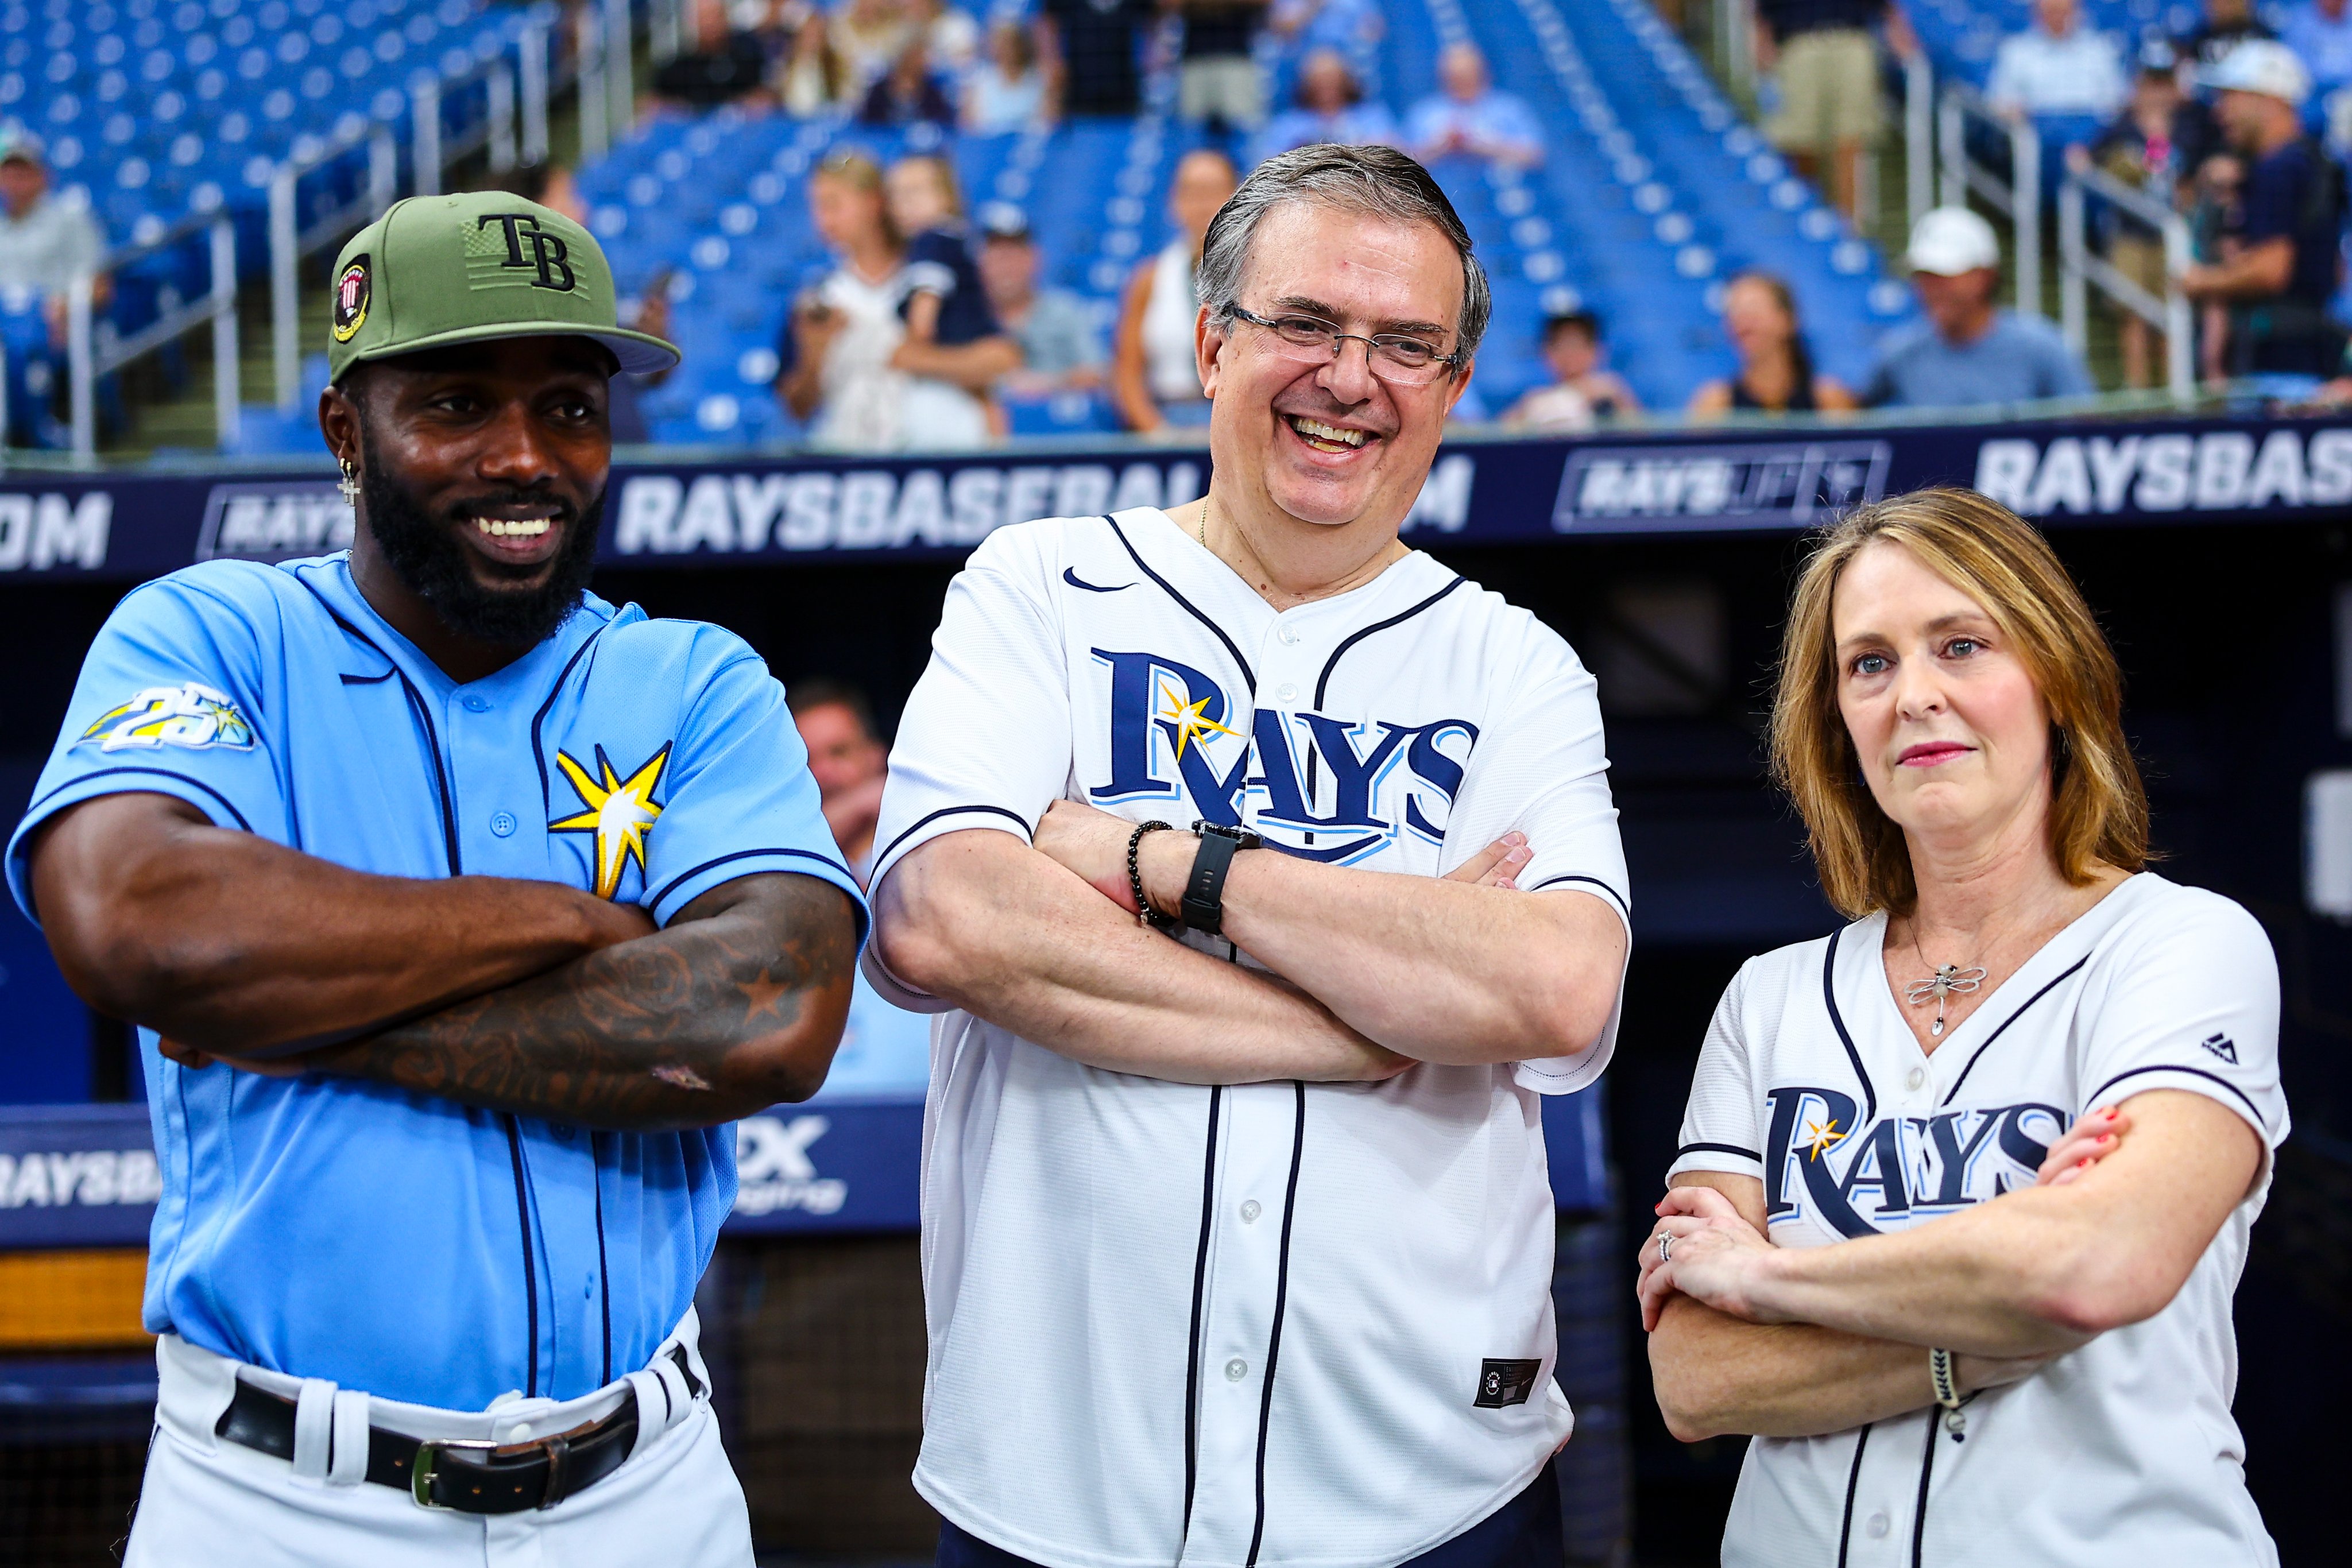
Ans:
<svg viewBox="0 0 2352 1568"><path fill-rule="evenodd" d="M1392 724L1258 708L1244 733L1225 722L1225 689L1202 670L1160 654L1091 654L1110 675L1110 780L1091 785L1089 799L1190 799L1202 818L1235 825L1254 806L1251 827L1310 860L1362 860L1399 832L1444 842L1477 745L1470 719ZM1327 797L1331 811L1317 813Z"/></svg>

